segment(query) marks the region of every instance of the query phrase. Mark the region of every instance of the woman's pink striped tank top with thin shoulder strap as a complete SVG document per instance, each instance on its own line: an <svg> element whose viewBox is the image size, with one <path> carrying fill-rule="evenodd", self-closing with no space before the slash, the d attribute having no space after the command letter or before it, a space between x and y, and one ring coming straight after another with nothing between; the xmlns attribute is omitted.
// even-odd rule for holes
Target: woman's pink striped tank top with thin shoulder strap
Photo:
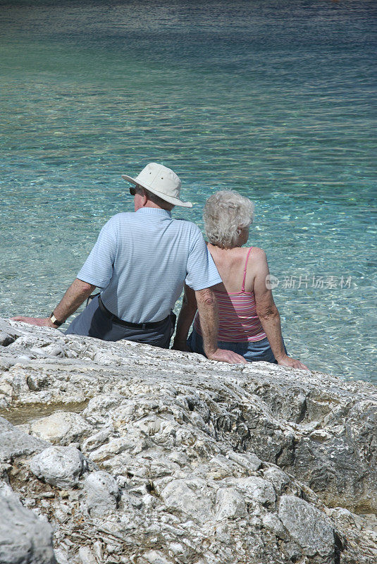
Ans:
<svg viewBox="0 0 377 564"><path fill-rule="evenodd" d="M254 292L245 292L247 261L251 250L252 247L246 257L242 290L233 294L214 290L218 302L218 341L243 343L266 338L257 316ZM194 329L202 335L198 313L194 319Z"/></svg>

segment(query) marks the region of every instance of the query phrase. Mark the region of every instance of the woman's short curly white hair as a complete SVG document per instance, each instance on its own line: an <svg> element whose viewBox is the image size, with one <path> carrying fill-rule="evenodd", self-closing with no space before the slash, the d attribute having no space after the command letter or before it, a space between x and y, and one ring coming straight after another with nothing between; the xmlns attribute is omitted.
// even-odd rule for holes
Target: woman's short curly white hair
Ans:
<svg viewBox="0 0 377 564"><path fill-rule="evenodd" d="M252 223L254 204L234 190L220 190L206 201L203 217L209 243L231 249L242 229Z"/></svg>

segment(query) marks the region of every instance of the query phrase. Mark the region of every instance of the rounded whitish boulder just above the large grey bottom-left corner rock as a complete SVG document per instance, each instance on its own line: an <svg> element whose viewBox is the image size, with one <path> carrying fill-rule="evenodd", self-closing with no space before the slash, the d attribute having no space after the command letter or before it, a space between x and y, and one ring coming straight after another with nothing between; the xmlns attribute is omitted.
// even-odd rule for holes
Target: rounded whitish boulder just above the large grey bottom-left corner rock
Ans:
<svg viewBox="0 0 377 564"><path fill-rule="evenodd" d="M80 450L73 446L50 446L30 461L30 470L51 486L73 488L86 467Z"/></svg>

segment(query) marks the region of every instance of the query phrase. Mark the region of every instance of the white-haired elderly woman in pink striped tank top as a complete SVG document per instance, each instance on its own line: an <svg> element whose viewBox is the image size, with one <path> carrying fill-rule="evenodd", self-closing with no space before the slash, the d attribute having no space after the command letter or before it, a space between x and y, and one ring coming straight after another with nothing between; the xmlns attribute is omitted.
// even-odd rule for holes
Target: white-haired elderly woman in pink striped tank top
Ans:
<svg viewBox="0 0 377 564"><path fill-rule="evenodd" d="M266 253L258 247L242 247L253 218L254 204L232 190L216 192L204 206L209 252L223 280L212 288L218 302L218 347L233 350L248 362L264 360L307 369L285 349L278 308L266 283ZM194 292L185 286L173 348L204 355L196 312ZM194 328L186 344L192 319Z"/></svg>

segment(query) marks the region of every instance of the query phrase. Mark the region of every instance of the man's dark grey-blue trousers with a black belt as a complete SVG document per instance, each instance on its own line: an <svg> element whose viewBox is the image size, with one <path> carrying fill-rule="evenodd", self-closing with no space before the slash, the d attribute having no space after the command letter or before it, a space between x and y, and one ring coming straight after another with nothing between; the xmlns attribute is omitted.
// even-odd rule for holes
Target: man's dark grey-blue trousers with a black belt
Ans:
<svg viewBox="0 0 377 564"><path fill-rule="evenodd" d="M156 347L169 348L173 331L172 316L164 319L161 321L161 324L151 329L129 328L117 324L101 311L98 296L96 296L89 302L84 311L73 319L66 331L66 335L83 335L102 339L102 341L127 339L137 343L147 343Z"/></svg>

